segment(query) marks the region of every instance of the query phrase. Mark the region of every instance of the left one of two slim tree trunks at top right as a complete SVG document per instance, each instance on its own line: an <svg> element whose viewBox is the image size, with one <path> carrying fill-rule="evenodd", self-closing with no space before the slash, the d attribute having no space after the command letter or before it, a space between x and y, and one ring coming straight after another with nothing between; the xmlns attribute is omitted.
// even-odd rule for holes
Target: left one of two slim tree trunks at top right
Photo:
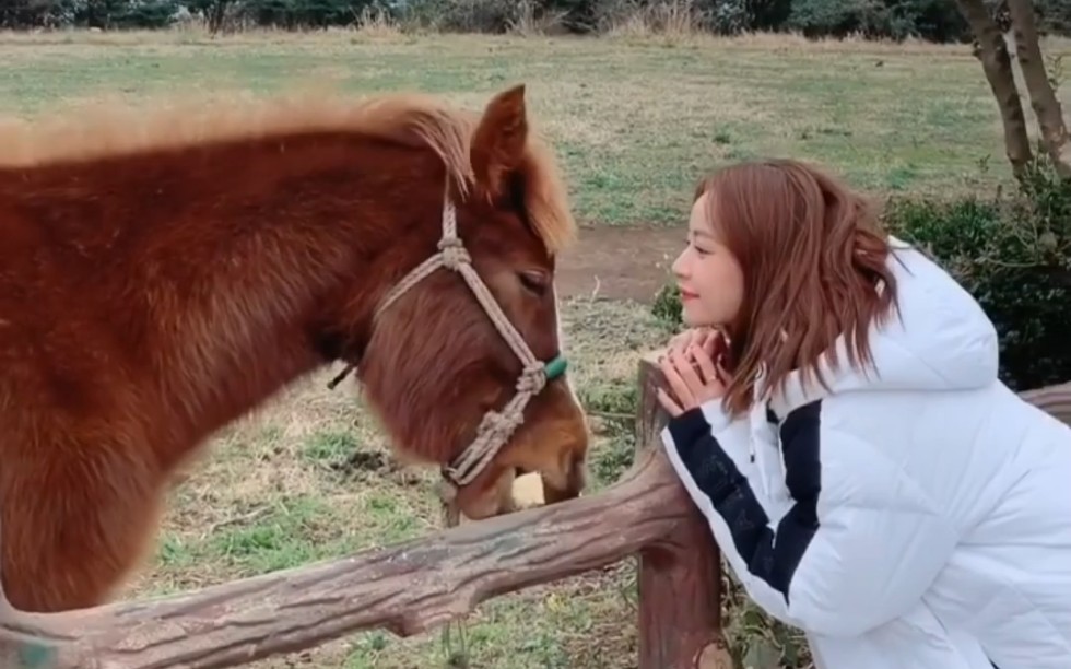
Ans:
<svg viewBox="0 0 1071 669"><path fill-rule="evenodd" d="M1000 28L993 22L982 0L956 0L956 7L970 25L978 40L978 59L981 61L986 80L997 99L1000 117L1004 124L1004 151L1016 175L1022 174L1033 157L1031 142L1026 134L1026 118L1015 89L1012 60L1008 45Z"/></svg>

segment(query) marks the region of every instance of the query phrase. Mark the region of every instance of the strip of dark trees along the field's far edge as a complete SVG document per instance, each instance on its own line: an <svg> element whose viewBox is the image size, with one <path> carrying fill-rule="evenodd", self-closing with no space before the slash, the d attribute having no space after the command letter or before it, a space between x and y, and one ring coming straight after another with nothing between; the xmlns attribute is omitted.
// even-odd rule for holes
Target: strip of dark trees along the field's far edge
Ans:
<svg viewBox="0 0 1071 669"><path fill-rule="evenodd" d="M1004 0L986 0L1007 24ZM623 15L673 5L696 30L717 34L790 31L810 37L864 35L969 42L955 0L3 0L0 27L164 28L199 21L213 31L345 26L374 10L444 30L504 32L521 15L595 33ZM1071 0L1036 0L1044 33L1071 35Z"/></svg>

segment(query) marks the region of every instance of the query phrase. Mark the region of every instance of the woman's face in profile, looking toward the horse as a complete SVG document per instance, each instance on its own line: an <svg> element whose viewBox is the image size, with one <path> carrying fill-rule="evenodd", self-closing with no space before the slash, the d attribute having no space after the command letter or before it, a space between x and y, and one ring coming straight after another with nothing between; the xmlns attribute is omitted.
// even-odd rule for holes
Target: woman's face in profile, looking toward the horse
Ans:
<svg viewBox="0 0 1071 669"><path fill-rule="evenodd" d="M684 325L692 328L727 328L737 320L744 295L743 270L708 219L710 197L706 192L692 206L687 246L673 261Z"/></svg>

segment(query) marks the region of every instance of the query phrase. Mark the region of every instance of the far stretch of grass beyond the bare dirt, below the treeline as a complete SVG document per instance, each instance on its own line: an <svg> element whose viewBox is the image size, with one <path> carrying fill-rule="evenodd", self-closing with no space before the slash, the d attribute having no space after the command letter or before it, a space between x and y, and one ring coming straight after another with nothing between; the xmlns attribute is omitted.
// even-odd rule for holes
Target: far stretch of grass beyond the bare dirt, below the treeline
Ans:
<svg viewBox="0 0 1071 669"><path fill-rule="evenodd" d="M944 193L1008 176L997 108L967 46L767 42L9 36L0 114L101 94L318 83L358 94L421 89L479 106L525 82L579 218L609 224L679 221L699 173L758 155L822 161L881 192Z"/></svg>

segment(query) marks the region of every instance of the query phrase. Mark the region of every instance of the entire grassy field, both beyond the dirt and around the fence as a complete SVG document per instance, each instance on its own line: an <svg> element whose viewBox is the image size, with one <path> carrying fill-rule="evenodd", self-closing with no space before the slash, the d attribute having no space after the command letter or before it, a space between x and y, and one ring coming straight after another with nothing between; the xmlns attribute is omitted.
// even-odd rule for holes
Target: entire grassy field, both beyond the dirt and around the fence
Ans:
<svg viewBox="0 0 1071 669"><path fill-rule="evenodd" d="M478 106L525 82L587 224L680 222L701 171L764 154L822 161L878 192L952 193L1008 177L997 108L966 47L391 31L223 40L4 35L0 62L0 115L25 117L101 95L141 101L307 85L422 89ZM1071 104L1067 89L1061 95ZM625 258L643 263L636 254ZM599 488L629 462L631 425L615 416L633 410L637 355L667 331L632 302L574 295L565 312L581 399L601 414L592 462ZM175 491L156 559L125 597L299 565L437 527L432 477L397 470L353 397L325 389L329 376L219 435ZM633 667L632 568L626 561L481 607L467 623L471 666ZM375 632L256 666L425 669L445 661L438 633L398 639Z"/></svg>

